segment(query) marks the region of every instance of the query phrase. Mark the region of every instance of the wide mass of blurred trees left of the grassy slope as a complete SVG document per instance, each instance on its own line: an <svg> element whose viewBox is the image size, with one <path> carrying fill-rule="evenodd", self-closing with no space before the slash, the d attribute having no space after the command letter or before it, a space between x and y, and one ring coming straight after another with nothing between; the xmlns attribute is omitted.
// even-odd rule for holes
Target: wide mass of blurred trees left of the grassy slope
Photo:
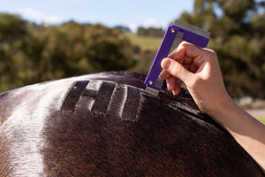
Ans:
<svg viewBox="0 0 265 177"><path fill-rule="evenodd" d="M73 21L44 27L0 13L0 92L135 64L133 45L120 30Z"/></svg>

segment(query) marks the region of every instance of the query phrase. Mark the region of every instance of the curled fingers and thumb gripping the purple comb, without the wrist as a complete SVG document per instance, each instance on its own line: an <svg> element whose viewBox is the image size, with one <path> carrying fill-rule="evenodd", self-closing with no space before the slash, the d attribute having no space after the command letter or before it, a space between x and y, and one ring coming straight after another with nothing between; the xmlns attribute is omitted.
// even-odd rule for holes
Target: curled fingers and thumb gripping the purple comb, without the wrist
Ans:
<svg viewBox="0 0 265 177"><path fill-rule="evenodd" d="M182 42L175 53L171 53L169 58L163 59L161 65L164 71L160 77L166 79L168 90L177 95L180 84L177 84L176 78L183 81L187 88L193 87L193 82L198 77L202 77L202 74L208 74L209 71L202 74L200 72L204 68L208 68L206 64L212 63L213 58L216 58L213 50L201 49L191 43Z"/></svg>

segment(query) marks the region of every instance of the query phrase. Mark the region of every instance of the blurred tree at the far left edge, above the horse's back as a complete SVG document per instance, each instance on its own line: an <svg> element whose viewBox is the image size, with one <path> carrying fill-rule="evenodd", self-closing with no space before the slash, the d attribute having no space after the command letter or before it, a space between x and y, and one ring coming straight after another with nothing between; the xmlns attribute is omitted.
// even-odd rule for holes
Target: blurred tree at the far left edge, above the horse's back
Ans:
<svg viewBox="0 0 265 177"><path fill-rule="evenodd" d="M27 34L26 20L0 13L0 91L15 88L21 82L17 77L21 66L19 46Z"/></svg>

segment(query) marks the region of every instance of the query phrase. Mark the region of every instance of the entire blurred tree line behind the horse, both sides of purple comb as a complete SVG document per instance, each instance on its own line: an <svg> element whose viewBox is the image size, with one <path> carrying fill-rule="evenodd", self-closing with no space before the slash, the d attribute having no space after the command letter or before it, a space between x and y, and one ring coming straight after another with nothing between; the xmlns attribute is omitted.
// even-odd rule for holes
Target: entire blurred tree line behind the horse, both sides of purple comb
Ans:
<svg viewBox="0 0 265 177"><path fill-rule="evenodd" d="M264 3L254 0L195 0L193 12L178 18L211 32L225 85L233 97L265 98ZM169 23L170 24L170 23ZM0 92L110 70L148 72L156 50L141 50L123 33L74 21L37 25L0 13ZM138 35L162 36L163 29L139 27Z"/></svg>

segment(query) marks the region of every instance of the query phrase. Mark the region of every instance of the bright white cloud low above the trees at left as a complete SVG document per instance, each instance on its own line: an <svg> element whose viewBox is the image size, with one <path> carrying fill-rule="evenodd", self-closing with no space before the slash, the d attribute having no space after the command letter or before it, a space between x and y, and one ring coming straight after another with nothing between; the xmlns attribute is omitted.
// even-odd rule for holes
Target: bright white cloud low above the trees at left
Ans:
<svg viewBox="0 0 265 177"><path fill-rule="evenodd" d="M23 18L32 20L34 22L39 22L39 23L56 24L56 23L63 22L64 20L59 16L46 15L32 8L20 9L18 12Z"/></svg>

